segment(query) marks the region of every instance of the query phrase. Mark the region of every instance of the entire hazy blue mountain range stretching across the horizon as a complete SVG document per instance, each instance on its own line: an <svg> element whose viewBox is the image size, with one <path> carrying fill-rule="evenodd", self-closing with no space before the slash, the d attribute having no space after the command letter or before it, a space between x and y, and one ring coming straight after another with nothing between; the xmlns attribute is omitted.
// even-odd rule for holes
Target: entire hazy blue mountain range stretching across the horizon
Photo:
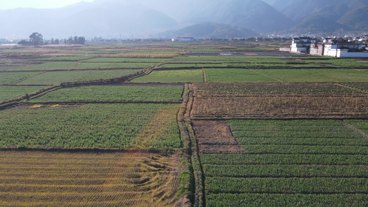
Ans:
<svg viewBox="0 0 368 207"><path fill-rule="evenodd" d="M367 0L95 0L57 9L0 10L0 39L205 37L366 31Z"/></svg>

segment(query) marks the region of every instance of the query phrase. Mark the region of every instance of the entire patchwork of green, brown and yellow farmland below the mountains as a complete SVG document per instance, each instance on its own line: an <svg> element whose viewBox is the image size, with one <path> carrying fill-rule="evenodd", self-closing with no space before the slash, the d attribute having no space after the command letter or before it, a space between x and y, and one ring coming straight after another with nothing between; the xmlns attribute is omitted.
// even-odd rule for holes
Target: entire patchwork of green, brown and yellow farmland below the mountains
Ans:
<svg viewBox="0 0 368 207"><path fill-rule="evenodd" d="M367 61L288 44L0 46L0 206L367 206Z"/></svg>

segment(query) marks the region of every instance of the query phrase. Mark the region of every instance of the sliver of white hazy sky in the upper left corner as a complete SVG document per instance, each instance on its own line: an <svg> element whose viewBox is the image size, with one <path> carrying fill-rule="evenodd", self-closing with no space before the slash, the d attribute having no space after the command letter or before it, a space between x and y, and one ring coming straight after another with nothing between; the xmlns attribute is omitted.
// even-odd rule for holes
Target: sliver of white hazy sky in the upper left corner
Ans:
<svg viewBox="0 0 368 207"><path fill-rule="evenodd" d="M81 1L94 0L0 0L0 10L13 8L60 8Z"/></svg>

